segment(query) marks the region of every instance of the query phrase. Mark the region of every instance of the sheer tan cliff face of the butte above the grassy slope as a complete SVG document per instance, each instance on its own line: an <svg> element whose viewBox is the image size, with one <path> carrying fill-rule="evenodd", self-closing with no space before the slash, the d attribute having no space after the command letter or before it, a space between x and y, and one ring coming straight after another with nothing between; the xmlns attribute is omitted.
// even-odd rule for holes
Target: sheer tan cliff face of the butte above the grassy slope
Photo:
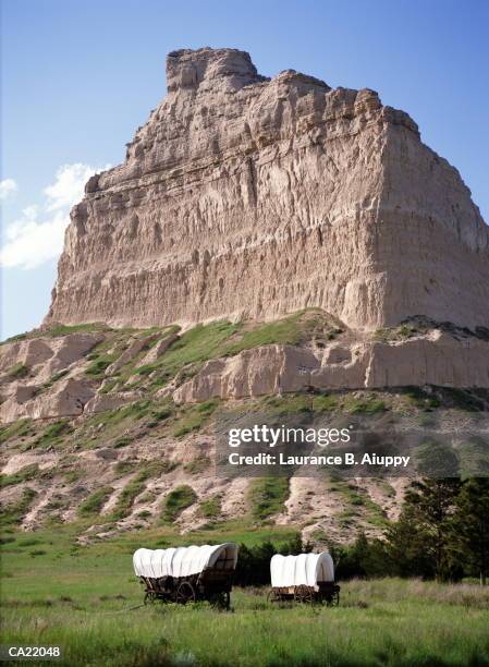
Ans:
<svg viewBox="0 0 489 667"><path fill-rule="evenodd" d="M71 214L48 320L489 326L489 232L457 171L369 89L175 51L123 165Z"/></svg>

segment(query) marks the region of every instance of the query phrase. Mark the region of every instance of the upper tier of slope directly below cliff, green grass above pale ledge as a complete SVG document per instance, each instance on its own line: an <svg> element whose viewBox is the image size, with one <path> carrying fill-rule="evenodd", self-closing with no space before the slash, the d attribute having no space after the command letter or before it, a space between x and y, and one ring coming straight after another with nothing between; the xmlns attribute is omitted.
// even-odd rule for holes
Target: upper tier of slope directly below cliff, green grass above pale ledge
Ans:
<svg viewBox="0 0 489 667"><path fill-rule="evenodd" d="M207 347L207 336L230 332L234 342ZM184 354L168 372L168 359L179 360L194 337L201 337L197 359L185 364ZM149 397L185 404L426 385L489 388L489 330L418 317L359 333L314 308L270 324L220 320L186 332L61 325L1 345L0 419L80 416Z"/></svg>

